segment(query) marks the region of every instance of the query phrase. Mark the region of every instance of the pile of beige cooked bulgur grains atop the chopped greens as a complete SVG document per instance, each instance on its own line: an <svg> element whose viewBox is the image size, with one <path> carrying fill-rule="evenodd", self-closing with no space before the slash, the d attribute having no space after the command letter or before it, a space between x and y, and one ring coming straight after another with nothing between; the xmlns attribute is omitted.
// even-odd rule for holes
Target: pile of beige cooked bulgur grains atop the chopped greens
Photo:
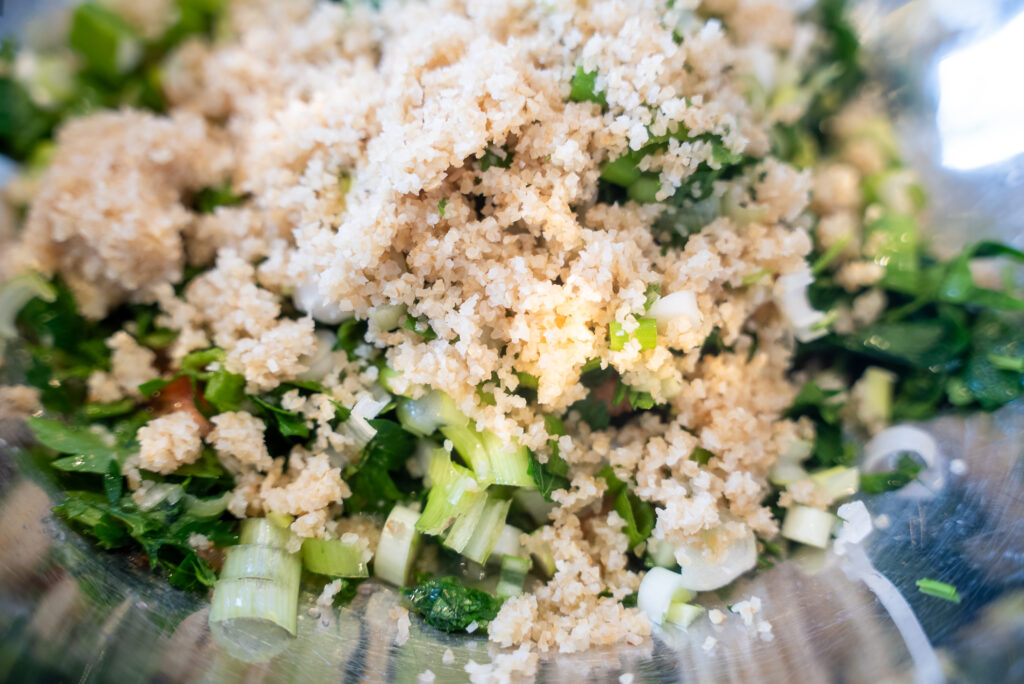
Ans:
<svg viewBox="0 0 1024 684"><path fill-rule="evenodd" d="M761 275L806 267L812 184L835 222L859 201L843 169L815 179L768 157L771 127L799 108L765 115L743 97L759 55L799 61L815 29L776 2L705 2L715 19L698 18L698 4L431 0L377 13L238 0L217 41L174 55L167 116L109 112L59 131L4 267L59 272L93 317L124 300L158 303L159 324L179 333L167 375L189 351L216 345L250 391L322 382L330 397L286 399L315 435L287 466L245 412L199 430L179 414L153 421L132 465L169 472L208 443L237 476L232 513L292 514L302 536L337 531L349 496L339 459L351 437L331 428L328 399L373 399L378 370L325 351L311 317L289 317L298 293L315 300L318 317L369 318L356 354L385 349L396 390L443 390L479 428L542 459L544 415L585 396L588 359L612 364L672 418L646 414L592 432L570 417L559 446L571 486L556 494L543 530L557 569L507 601L489 635L525 645L514 657L523 670L536 668L532 648L640 643L647 618L618 599L641 574L627 567L623 519L600 512L605 485L595 473L610 464L637 483L656 507L656 540L692 544L727 521L736 537L775 533L762 505L766 474L810 426L781 418L795 395L794 331L772 303L774 277ZM578 67L598 74L605 111L568 101ZM663 249L652 229L660 207L599 204L597 183L602 163L679 124L763 158L715 189L745 194L760 213L745 225L718 218L684 248ZM506 164L484 170L484 155ZM707 143L674 140L643 164L668 197L710 155ZM225 182L248 200L208 215L186 208L190 194ZM185 264L211 268L179 297ZM699 320L663 331L651 351L635 340L610 350L609 324L632 330L651 285L694 293ZM395 305L437 339L373 323ZM733 350L701 358L716 329ZM90 381L97 400L133 395L156 373L129 333L111 338L112 371ZM506 391L494 392L494 405L479 401L481 383L513 390L516 372L539 379L536 403ZM705 466L689 458L698 446L714 454Z"/></svg>

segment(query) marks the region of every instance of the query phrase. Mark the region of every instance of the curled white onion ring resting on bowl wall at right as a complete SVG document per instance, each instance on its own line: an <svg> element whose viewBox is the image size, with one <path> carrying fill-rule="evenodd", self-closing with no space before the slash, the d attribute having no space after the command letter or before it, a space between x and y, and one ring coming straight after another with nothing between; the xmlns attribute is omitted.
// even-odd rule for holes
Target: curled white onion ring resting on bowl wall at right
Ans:
<svg viewBox="0 0 1024 684"><path fill-rule="evenodd" d="M932 435L911 425L894 425L871 437L864 445L863 470L878 473L896 467L901 454L916 455L925 464L918 477L899 489L902 497L934 497L946 483L945 459Z"/></svg>

